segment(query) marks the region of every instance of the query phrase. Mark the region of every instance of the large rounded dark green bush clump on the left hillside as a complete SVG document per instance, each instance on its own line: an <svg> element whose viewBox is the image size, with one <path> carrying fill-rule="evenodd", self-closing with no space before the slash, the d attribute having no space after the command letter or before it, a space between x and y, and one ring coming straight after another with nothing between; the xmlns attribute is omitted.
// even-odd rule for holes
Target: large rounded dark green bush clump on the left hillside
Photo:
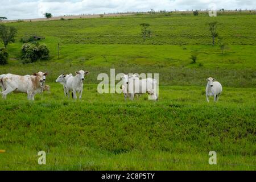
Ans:
<svg viewBox="0 0 256 182"><path fill-rule="evenodd" d="M22 46L22 59L23 63L33 63L38 59L48 59L49 49L45 45L36 44L23 44Z"/></svg>

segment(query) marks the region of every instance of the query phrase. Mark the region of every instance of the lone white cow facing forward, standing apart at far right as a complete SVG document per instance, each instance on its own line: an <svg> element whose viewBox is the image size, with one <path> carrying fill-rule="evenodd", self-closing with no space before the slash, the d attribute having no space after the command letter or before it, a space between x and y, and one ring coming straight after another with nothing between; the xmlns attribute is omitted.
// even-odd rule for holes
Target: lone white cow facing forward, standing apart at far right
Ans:
<svg viewBox="0 0 256 182"><path fill-rule="evenodd" d="M205 89L207 102L209 102L208 96L214 96L214 102L217 102L221 92L222 86L220 82L215 81L215 79L212 77L207 78L207 87Z"/></svg>

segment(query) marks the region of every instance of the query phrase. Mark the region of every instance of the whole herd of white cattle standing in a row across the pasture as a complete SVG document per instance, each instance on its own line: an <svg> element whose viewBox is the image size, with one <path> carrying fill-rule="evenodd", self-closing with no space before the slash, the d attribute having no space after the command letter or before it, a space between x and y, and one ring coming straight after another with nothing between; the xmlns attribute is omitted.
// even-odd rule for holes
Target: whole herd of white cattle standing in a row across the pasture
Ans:
<svg viewBox="0 0 256 182"><path fill-rule="evenodd" d="M77 99L76 93L79 93L79 99L82 98L82 89L85 76L88 75L88 71L77 71L76 76L72 73L69 75L60 75L57 77L56 82L63 85L65 96L69 97L71 92L72 98ZM11 92L23 92L27 93L28 100L34 100L35 94L42 93L43 91L49 91L49 85L45 85L46 76L48 73L38 72L32 75L13 75L11 73L0 75L0 86L2 88L2 97L6 99L7 94ZM125 75L122 73L122 92L125 100L127 97L130 100L134 100L134 96L143 93L148 93L151 96L151 100L158 101L158 82L154 78L140 79L138 75ZM214 101L218 101L222 92L222 86L220 82L215 81L214 78L207 78L207 86L205 89L207 102L209 102L209 96L214 96Z"/></svg>

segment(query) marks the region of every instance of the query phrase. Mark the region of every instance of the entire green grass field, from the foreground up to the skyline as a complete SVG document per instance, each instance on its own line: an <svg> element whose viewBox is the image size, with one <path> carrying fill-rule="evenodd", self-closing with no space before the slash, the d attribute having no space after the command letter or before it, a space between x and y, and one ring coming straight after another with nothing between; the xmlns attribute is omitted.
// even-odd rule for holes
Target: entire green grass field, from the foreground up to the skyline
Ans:
<svg viewBox="0 0 256 182"><path fill-rule="evenodd" d="M211 46L207 22L229 49ZM140 36L150 23L152 37ZM2 73L48 72L51 92L0 99L1 170L255 170L256 15L133 15L7 23L18 28ZM19 39L45 36L50 59L22 64ZM60 43L60 59L57 59ZM1 47L1 44L0 44ZM196 64L189 57L198 54ZM97 93L97 75L159 73L159 102ZM68 100L54 81L80 69L82 100ZM207 103L206 78L223 86ZM39 165L39 151L47 164ZM209 165L209 151L217 165Z"/></svg>

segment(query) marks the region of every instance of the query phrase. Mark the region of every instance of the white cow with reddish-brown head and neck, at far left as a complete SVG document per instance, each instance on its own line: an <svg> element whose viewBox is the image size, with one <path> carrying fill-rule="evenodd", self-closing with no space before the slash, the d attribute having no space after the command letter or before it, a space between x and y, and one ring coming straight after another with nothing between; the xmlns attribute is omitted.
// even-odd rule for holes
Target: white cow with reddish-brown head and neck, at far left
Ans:
<svg viewBox="0 0 256 182"><path fill-rule="evenodd" d="M27 93L28 100L34 100L34 96L37 93L41 93L44 88L44 76L47 73L38 72L33 75L13 75L6 74L1 76L1 86L3 92L2 97L6 99L7 94L11 92L23 92Z"/></svg>

